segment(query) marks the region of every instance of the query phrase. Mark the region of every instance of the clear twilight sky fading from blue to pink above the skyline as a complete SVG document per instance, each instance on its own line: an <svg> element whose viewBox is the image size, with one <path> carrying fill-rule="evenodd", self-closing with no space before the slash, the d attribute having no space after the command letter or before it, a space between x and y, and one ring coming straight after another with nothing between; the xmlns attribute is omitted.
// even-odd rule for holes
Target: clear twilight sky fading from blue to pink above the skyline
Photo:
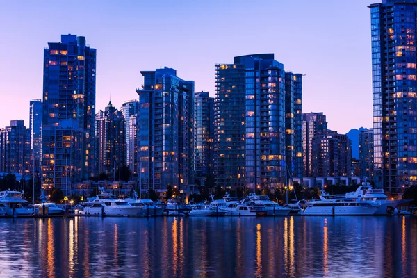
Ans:
<svg viewBox="0 0 417 278"><path fill-rule="evenodd" d="M305 74L303 113L339 133L372 127L370 10L363 0L0 0L0 127L28 126L42 99L43 49L61 34L97 49L96 112L136 99L140 70L172 67L214 97L214 65L274 53Z"/></svg>

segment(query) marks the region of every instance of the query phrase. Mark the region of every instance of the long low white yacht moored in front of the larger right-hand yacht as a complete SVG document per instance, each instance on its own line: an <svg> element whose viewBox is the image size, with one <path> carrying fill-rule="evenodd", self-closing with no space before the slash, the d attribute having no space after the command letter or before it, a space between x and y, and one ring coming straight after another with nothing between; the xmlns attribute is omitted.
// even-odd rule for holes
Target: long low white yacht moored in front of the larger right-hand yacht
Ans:
<svg viewBox="0 0 417 278"><path fill-rule="evenodd" d="M321 196L320 196L321 197ZM379 204L353 199L321 199L308 204L302 215L374 215Z"/></svg>

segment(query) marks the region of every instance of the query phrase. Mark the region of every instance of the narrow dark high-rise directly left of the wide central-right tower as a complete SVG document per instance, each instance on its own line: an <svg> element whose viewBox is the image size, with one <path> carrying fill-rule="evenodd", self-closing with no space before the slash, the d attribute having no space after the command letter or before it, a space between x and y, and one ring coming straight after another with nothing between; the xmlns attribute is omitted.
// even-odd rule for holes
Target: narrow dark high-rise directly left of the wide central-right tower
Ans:
<svg viewBox="0 0 417 278"><path fill-rule="evenodd" d="M214 186L214 98L196 92L194 98L194 180Z"/></svg>

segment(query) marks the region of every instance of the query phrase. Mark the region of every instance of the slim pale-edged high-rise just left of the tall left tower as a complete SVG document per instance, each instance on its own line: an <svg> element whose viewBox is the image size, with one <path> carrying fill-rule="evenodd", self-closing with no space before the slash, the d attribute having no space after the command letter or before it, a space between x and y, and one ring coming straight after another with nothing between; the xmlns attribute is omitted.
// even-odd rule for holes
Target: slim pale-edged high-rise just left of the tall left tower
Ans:
<svg viewBox="0 0 417 278"><path fill-rule="evenodd" d="M29 111L29 130L31 133L31 163L32 171L40 171L40 154L42 151L42 101L40 99L32 99L30 101ZM34 163L34 164L33 164Z"/></svg>

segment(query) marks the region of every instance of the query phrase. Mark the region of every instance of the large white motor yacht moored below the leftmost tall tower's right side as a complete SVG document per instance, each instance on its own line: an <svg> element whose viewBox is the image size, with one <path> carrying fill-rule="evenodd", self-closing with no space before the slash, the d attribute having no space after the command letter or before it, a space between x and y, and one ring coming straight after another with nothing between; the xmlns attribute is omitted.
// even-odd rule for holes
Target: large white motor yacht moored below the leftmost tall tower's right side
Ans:
<svg viewBox="0 0 417 278"><path fill-rule="evenodd" d="M81 214L104 214L108 216L145 216L146 212L145 209L138 206L132 206L122 199L107 200L106 202L92 202L90 206L85 206L83 211L80 211Z"/></svg>

